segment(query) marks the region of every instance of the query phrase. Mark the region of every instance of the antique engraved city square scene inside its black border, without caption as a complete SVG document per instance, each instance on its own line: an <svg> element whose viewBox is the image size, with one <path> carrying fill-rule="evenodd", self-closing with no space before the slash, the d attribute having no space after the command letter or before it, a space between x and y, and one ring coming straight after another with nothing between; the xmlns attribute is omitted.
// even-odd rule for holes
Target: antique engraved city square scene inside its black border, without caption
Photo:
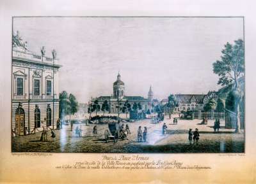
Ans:
<svg viewBox="0 0 256 184"><path fill-rule="evenodd" d="M243 17L13 17L12 152L244 153Z"/></svg>

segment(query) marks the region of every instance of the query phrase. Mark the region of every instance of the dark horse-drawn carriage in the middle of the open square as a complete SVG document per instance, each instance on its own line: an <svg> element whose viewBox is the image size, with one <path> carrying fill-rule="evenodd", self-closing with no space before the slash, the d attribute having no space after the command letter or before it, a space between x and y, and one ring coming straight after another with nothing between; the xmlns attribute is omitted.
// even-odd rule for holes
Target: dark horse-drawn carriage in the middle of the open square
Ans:
<svg viewBox="0 0 256 184"><path fill-rule="evenodd" d="M117 122L109 122L108 128L109 129L105 130L104 132L106 143L111 140L116 143L118 139L124 140L127 137L125 131L120 128L120 124L118 124Z"/></svg>

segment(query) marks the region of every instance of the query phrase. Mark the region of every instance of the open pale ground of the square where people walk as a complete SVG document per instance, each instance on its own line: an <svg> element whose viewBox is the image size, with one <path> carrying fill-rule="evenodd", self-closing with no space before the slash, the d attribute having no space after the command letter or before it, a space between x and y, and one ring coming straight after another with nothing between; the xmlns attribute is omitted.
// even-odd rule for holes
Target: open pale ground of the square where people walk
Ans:
<svg viewBox="0 0 256 184"><path fill-rule="evenodd" d="M235 134L234 129L225 129L221 121L220 132L213 132L214 120L209 120L207 125L201 125L202 120L178 120L173 125L173 118L164 118L168 126L166 136L162 134L163 122L153 124L150 119L136 122L125 122L131 130L127 139L118 139L117 143L104 140L104 131L107 124L97 125L97 137L93 137L94 124L74 124L73 131L70 125L63 125L63 129L55 130L56 138L52 141L51 131L47 132L47 141L40 141L42 132L28 136L15 137L12 140L13 152L68 152L68 153L222 153L244 152L244 132ZM122 123L121 123L122 124ZM82 137L75 134L76 126L81 127ZM137 131L141 126L143 131L147 127L147 142L138 143ZM189 145L189 129L198 128L200 139L198 145Z"/></svg>

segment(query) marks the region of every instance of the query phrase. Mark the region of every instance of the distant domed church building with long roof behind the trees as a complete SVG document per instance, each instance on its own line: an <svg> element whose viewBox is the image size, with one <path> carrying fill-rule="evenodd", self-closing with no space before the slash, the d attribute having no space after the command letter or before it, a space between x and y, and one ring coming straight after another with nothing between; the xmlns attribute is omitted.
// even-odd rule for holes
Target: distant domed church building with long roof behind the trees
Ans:
<svg viewBox="0 0 256 184"><path fill-rule="evenodd" d="M90 103L93 104L96 100L100 104L100 107L104 101L107 101L109 104L109 113L121 112L121 109L126 102L131 104L131 108L135 103L140 104L141 110L147 111L153 101L153 91L150 86L147 99L141 96L125 96L125 83L121 80L120 73L118 73L116 81L113 83L113 95L92 98Z"/></svg>

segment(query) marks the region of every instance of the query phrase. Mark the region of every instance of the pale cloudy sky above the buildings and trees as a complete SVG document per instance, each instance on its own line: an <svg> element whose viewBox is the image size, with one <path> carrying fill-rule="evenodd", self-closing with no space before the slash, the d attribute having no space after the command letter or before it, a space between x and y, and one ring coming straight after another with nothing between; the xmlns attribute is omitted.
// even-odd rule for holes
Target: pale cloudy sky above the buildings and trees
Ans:
<svg viewBox="0 0 256 184"><path fill-rule="evenodd" d="M79 103L110 96L118 71L126 96L206 94L218 90L212 63L227 43L243 39L243 18L16 17L28 49L61 64L60 92Z"/></svg>

